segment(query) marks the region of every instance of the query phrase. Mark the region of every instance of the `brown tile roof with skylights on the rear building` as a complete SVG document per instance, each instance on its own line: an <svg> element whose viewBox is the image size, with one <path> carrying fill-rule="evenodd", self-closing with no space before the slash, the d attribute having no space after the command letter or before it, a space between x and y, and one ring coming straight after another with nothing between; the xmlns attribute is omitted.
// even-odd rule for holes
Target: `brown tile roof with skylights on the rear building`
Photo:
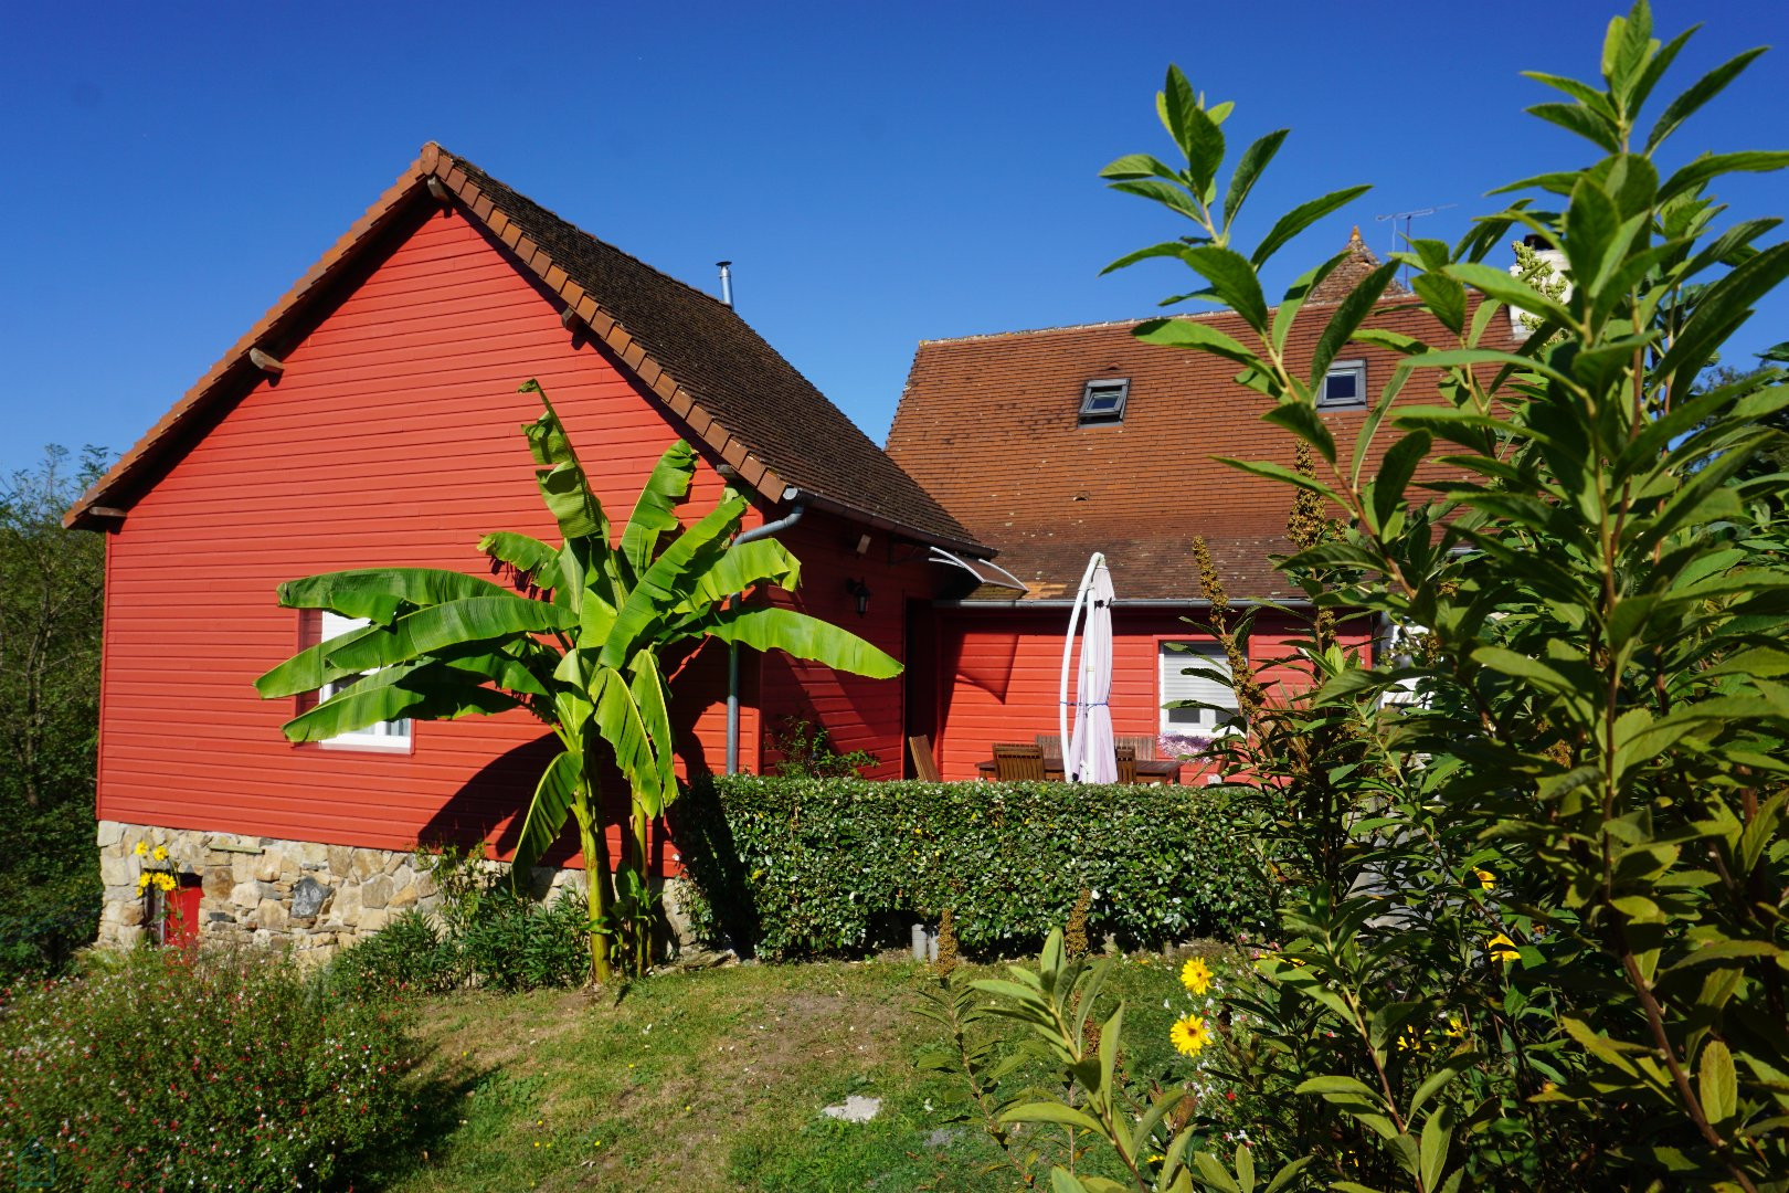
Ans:
<svg viewBox="0 0 1789 1193"><path fill-rule="evenodd" d="M1310 311L1297 320L1292 360L1310 360L1327 315ZM1252 333L1229 311L1191 318L1251 342ZM1388 308L1372 324L1440 336L1438 324L1412 304ZM1131 334L1134 326L921 342L889 454L1000 549L1000 563L1030 585L1027 599L1073 597L1088 554L1104 551L1120 601L1195 601L1195 535L1211 544L1231 597L1292 596L1268 560L1290 553L1292 490L1215 460L1292 463L1292 436L1261 420L1272 401L1236 385L1236 365L1141 343ZM1374 393L1397 363L1392 352L1358 343L1344 358L1367 363ZM1082 386L1100 377L1131 381L1123 422L1081 426ZM1438 395L1412 379L1399 401L1437 402ZM1363 408L1324 413L1345 445L1363 419ZM1374 451L1392 438L1394 431L1381 429ZM1013 592L977 596L1011 599Z"/></svg>

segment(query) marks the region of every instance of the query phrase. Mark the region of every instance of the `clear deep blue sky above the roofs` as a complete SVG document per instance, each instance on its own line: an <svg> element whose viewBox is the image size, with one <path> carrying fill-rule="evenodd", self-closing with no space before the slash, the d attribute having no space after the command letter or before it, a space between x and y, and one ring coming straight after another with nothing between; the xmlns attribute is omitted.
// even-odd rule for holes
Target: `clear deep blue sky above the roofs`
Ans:
<svg viewBox="0 0 1789 1193"><path fill-rule="evenodd" d="M1247 11L1243 11L1247 7ZM1265 222L1374 182L1281 252L1290 274L1378 215L1453 240L1483 193L1590 150L1521 113L1524 68L1594 77L1607 4L1497 5L18 5L0 38L11 236L0 472L48 442L125 449L426 140L692 284L735 261L741 313L880 440L921 338L1149 315L1190 288L1179 234L1102 165L1166 156L1166 64L1238 104L1233 150L1290 125ZM1789 147L1789 4L1664 0L1701 20L1666 91L1766 55L1676 138ZM1676 86L1671 86L1671 84ZM1735 213L1789 209L1739 177ZM1728 360L1789 340L1789 297Z"/></svg>

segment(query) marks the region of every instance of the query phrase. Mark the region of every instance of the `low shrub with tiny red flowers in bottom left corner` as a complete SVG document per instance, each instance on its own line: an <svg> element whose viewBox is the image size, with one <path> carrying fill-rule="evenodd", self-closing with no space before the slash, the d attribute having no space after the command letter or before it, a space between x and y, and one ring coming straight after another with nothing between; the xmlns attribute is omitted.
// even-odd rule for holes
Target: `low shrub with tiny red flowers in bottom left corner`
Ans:
<svg viewBox="0 0 1789 1193"><path fill-rule="evenodd" d="M403 1014L292 962L140 950L0 994L0 1186L329 1188L404 1118ZM27 1172L25 1164L32 1164Z"/></svg>

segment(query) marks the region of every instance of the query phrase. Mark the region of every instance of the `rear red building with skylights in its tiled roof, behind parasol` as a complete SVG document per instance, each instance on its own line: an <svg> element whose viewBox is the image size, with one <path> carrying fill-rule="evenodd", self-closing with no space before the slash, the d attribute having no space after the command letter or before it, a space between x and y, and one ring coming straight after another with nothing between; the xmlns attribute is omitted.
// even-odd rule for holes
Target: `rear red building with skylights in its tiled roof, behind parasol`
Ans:
<svg viewBox="0 0 1789 1193"><path fill-rule="evenodd" d="M1347 252L1299 315L1286 345L1293 368L1311 360L1326 308L1379 265L1358 229ZM1394 283L1385 302L1376 327L1442 342L1442 327L1406 290ZM1252 338L1229 311L1191 318ZM932 708L923 728L946 780L975 778L996 740L1056 730L1064 631L1091 553L1106 554L1116 594L1113 732L1157 739L1163 758L1181 753L1177 742L1208 739L1222 715L1166 701L1233 705L1227 689L1186 676L1193 660L1168 647L1191 646L1227 671L1217 644L1186 622L1208 613L1193 537L1206 538L1238 610L1263 601L1295 608L1302 596L1270 563L1292 551L1292 490L1215 460L1292 465L1290 435L1261 422L1270 399L1238 385L1236 365L1143 343L1132 327L1136 320L927 340L914 356L887 453L1025 585L939 599L934 658L909 656L909 708ZM1369 397L1395 363L1388 349L1352 343L1329 368L1318 406L1340 444L1354 442ZM1399 397L1437 401L1420 379ZM1385 433L1378 447L1390 442ZM1286 639L1297 631L1286 615L1256 622L1249 655L1268 665L1270 681L1272 662L1290 653ZM1372 637L1363 621L1344 630L1354 647ZM918 696L916 683L928 683L932 698ZM1197 782L1200 767L1183 767L1181 778Z"/></svg>

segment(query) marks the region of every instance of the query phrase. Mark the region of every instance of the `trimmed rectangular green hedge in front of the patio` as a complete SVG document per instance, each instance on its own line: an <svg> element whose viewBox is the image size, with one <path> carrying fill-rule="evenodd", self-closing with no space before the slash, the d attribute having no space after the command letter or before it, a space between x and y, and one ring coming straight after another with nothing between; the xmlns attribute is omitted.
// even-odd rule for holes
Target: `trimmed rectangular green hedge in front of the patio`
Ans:
<svg viewBox="0 0 1789 1193"><path fill-rule="evenodd" d="M853 953L950 909L979 952L1030 948L1082 889L1091 932L1163 943L1268 923L1225 787L698 780L671 808L699 932L771 957Z"/></svg>

